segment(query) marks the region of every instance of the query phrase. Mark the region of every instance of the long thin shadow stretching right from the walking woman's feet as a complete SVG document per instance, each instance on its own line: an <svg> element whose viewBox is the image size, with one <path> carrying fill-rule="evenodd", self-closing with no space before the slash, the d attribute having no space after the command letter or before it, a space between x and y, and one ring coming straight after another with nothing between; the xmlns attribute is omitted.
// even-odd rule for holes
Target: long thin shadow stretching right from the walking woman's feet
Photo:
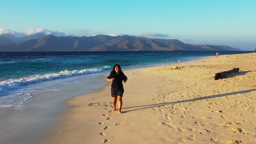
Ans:
<svg viewBox="0 0 256 144"><path fill-rule="evenodd" d="M154 108L154 107L159 107L159 106L163 106L163 105L172 105L172 104L178 104L178 103L183 103L183 102L199 101L199 100L210 99L210 98L218 98L218 97L223 97L223 96L228 96L228 95L244 94L244 93L252 92L255 90L256 90L256 88L244 90L244 91L238 91L238 92L230 92L230 93L220 94L220 95L210 95L210 96L206 96L206 97L193 98L193 99L188 99L188 100L184 100L184 101L174 101L174 102L167 102L167 103L160 103L160 104L153 104L153 105L140 105L140 106L127 107L127 108L137 108L137 109L122 111L122 113L126 113L129 111L142 110L142 109L146 109L146 108ZM140 108L140 107L145 107L145 108ZM122 110L123 109L126 109L126 108L122 108Z"/></svg>

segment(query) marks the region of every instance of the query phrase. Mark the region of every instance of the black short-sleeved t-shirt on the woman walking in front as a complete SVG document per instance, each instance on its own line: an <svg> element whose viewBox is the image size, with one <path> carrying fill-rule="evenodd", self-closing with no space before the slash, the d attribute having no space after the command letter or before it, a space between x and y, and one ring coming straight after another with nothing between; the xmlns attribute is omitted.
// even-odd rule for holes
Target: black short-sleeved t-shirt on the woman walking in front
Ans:
<svg viewBox="0 0 256 144"><path fill-rule="evenodd" d="M115 72L111 73L107 77L108 79L114 78L115 80L112 82L111 88L124 89L122 81L127 79L125 74L120 73L119 75L115 74Z"/></svg>

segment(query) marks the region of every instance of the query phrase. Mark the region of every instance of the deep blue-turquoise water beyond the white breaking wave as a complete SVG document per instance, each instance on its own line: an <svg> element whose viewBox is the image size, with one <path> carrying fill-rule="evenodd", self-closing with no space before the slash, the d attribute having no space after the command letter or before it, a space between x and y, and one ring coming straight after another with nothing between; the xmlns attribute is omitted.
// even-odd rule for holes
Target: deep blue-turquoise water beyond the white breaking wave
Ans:
<svg viewBox="0 0 256 144"><path fill-rule="evenodd" d="M220 52L221 55L249 51ZM0 52L0 81L74 70L164 65L215 56L216 52ZM104 69L105 68L105 69ZM100 71L102 70L102 71Z"/></svg>

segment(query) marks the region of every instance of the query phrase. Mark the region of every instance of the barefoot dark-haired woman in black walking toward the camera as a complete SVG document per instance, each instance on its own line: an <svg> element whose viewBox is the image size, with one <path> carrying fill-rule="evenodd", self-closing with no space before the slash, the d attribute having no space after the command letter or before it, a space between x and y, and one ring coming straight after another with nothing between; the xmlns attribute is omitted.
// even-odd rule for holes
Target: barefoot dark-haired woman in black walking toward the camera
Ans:
<svg viewBox="0 0 256 144"><path fill-rule="evenodd" d="M122 72L120 65L116 64L113 67L110 75L106 78L108 82L112 82L111 96L113 97L113 111L115 111L116 101L118 100L118 113L121 114L121 108L123 105L122 97L124 94L124 87L122 83L127 81L127 77Z"/></svg>

